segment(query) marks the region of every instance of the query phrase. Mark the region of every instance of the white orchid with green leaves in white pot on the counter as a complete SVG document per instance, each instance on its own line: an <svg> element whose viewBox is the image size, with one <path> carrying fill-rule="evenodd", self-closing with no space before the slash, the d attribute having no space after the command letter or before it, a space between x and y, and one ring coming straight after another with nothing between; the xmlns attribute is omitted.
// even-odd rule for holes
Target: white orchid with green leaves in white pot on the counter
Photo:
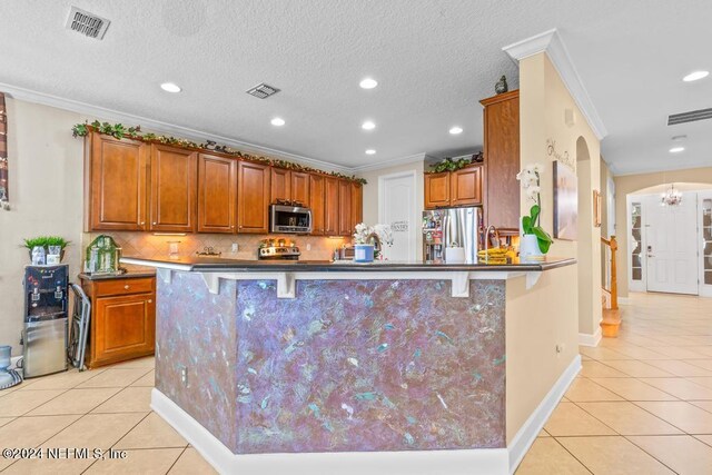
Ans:
<svg viewBox="0 0 712 475"><path fill-rule="evenodd" d="M541 164L531 164L524 167L516 176L522 184L522 189L534 202L528 216L522 217L522 240L520 243L520 258L543 260L544 255L554 243L552 237L541 226L542 197L540 175L543 170Z"/></svg>

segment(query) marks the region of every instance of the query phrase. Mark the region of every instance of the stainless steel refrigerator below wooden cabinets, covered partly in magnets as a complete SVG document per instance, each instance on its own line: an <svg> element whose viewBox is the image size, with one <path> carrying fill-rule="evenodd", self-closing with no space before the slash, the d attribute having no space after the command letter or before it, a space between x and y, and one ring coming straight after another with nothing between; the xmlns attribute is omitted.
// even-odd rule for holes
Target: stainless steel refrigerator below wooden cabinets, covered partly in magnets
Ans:
<svg viewBox="0 0 712 475"><path fill-rule="evenodd" d="M465 263L476 263L481 226L481 207L423 211L423 260L444 263L448 247L463 247Z"/></svg>

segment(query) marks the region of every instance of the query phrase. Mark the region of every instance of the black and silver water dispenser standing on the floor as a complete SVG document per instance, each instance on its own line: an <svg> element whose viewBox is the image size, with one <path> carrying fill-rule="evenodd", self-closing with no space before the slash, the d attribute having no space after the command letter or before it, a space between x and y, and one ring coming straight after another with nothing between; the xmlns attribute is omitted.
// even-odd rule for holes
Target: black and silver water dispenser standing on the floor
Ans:
<svg viewBox="0 0 712 475"><path fill-rule="evenodd" d="M67 370L69 265L24 266L22 373L26 378Z"/></svg>

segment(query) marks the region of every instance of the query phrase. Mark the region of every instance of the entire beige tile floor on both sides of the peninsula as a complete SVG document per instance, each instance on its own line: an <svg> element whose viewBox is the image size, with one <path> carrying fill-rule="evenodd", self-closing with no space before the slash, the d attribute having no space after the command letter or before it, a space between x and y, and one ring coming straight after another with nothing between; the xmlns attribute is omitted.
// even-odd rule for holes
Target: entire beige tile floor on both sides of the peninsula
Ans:
<svg viewBox="0 0 712 475"><path fill-rule="evenodd" d="M517 474L712 474L712 299L635 295L619 338L583 369ZM0 447L126 451L123 459L0 457L12 474L210 474L149 407L154 359L0 392Z"/></svg>

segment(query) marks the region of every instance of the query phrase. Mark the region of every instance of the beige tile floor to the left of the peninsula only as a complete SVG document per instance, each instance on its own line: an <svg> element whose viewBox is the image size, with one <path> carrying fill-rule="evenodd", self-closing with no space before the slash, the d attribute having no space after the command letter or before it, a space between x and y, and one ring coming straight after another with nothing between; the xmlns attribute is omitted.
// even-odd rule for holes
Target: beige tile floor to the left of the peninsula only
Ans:
<svg viewBox="0 0 712 475"><path fill-rule="evenodd" d="M176 431L151 412L154 358L28 379L0 392L0 448L125 451L113 459L7 459L8 474L214 474Z"/></svg>

